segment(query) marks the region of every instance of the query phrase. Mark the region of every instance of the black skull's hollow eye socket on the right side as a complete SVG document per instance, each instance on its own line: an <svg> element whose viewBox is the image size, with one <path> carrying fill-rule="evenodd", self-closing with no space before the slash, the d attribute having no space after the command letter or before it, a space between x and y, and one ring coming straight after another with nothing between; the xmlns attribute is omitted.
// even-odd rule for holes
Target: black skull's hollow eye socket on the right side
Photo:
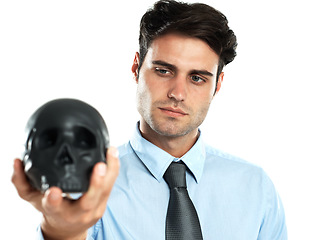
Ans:
<svg viewBox="0 0 316 240"><path fill-rule="evenodd" d="M74 129L74 133L75 133L75 142L74 142L75 147L81 148L81 149L91 149L91 148L96 147L97 145L96 138L94 134L87 128L76 127Z"/></svg>

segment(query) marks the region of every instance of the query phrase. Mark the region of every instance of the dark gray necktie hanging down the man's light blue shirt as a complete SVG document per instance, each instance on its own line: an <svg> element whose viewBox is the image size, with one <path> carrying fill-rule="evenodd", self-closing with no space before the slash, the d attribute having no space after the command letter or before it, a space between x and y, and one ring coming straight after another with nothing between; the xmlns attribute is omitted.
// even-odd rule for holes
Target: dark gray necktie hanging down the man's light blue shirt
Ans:
<svg viewBox="0 0 316 240"><path fill-rule="evenodd" d="M203 239L199 218L187 191L185 172L183 162L172 162L164 175L170 188L166 240Z"/></svg>

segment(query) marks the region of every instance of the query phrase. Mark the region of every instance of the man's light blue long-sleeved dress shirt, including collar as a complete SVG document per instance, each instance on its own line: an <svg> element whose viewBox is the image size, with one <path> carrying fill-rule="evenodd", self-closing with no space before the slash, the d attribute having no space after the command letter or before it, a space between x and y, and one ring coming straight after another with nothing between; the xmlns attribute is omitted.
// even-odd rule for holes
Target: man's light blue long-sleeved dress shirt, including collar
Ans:
<svg viewBox="0 0 316 240"><path fill-rule="evenodd" d="M138 127L119 147L121 169L91 240L163 240L169 188L163 179L182 160L204 240L286 240L280 198L265 172L206 145L200 135L180 159L145 140Z"/></svg>

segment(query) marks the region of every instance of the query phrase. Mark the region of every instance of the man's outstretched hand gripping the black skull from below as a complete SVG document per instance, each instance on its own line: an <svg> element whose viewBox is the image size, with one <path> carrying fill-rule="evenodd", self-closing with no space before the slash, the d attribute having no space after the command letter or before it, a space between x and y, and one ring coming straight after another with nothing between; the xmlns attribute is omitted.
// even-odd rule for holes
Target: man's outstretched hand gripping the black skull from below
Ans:
<svg viewBox="0 0 316 240"><path fill-rule="evenodd" d="M106 156L107 164L94 166L88 191L76 201L63 198L57 187L44 194L35 190L27 181L21 160L14 160L12 183L21 198L43 213L41 228L46 240L85 239L88 229L103 216L120 167L114 147L108 149Z"/></svg>

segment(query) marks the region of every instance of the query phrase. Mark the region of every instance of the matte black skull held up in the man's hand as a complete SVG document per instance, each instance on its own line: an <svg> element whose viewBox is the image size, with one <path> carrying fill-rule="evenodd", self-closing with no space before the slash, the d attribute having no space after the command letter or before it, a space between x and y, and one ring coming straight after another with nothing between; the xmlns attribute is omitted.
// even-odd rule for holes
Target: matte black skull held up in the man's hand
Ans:
<svg viewBox="0 0 316 240"><path fill-rule="evenodd" d="M96 109L75 99L53 100L30 117L26 131L23 162L33 187L88 190L92 168L105 162L109 147L106 124Z"/></svg>

